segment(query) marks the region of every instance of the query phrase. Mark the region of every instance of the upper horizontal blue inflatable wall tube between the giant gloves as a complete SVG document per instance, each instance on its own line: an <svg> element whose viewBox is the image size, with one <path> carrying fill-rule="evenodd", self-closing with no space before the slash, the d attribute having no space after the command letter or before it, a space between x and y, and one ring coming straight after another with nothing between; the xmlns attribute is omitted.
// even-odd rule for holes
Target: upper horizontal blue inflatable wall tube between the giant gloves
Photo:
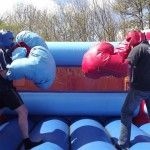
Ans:
<svg viewBox="0 0 150 150"><path fill-rule="evenodd" d="M98 42L47 42L57 66L81 66L83 55ZM114 47L118 42L110 42Z"/></svg>

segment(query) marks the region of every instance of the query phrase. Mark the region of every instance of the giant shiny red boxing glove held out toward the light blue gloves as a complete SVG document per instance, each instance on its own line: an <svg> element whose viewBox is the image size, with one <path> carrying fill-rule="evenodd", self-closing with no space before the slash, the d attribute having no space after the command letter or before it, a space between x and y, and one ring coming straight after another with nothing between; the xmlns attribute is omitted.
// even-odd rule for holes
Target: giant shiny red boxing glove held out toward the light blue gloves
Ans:
<svg viewBox="0 0 150 150"><path fill-rule="evenodd" d="M110 43L100 42L91 47L82 60L82 71L89 78L103 76L125 77L128 75L128 60L114 54Z"/></svg>

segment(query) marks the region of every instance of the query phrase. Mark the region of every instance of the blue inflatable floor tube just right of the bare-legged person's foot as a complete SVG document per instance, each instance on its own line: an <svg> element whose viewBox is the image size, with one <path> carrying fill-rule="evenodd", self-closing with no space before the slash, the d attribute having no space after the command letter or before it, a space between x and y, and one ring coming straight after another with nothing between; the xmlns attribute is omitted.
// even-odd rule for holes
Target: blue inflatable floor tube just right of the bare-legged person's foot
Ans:
<svg viewBox="0 0 150 150"><path fill-rule="evenodd" d="M35 126L30 134L32 141L43 140L44 143L32 150L68 150L68 134L68 125L63 119L44 119Z"/></svg>

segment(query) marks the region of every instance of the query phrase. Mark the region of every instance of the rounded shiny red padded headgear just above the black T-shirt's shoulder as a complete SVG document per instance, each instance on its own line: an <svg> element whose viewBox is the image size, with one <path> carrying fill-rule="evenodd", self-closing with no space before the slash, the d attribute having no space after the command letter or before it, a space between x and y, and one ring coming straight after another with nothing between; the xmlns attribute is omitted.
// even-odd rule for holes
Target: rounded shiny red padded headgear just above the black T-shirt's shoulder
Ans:
<svg viewBox="0 0 150 150"><path fill-rule="evenodd" d="M140 31L132 31L126 34L126 40L131 46L135 47L145 40L145 35Z"/></svg>

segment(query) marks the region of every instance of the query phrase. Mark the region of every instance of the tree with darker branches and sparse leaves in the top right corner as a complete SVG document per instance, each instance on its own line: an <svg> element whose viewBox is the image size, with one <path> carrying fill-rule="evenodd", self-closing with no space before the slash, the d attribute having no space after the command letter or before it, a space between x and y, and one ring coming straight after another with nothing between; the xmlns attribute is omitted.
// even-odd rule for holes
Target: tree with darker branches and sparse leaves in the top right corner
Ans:
<svg viewBox="0 0 150 150"><path fill-rule="evenodd" d="M123 16L128 29L143 30L149 24L149 0L115 0L113 8L120 16Z"/></svg>

